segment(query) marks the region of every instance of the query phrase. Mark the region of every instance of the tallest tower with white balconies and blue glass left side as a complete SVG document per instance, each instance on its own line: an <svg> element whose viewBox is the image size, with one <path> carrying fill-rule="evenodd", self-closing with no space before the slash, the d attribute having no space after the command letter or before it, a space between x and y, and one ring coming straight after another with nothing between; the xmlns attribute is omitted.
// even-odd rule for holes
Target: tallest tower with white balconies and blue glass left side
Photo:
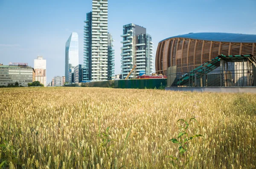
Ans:
<svg viewBox="0 0 256 169"><path fill-rule="evenodd" d="M92 2L93 11L84 21L83 80L108 80L108 0Z"/></svg>

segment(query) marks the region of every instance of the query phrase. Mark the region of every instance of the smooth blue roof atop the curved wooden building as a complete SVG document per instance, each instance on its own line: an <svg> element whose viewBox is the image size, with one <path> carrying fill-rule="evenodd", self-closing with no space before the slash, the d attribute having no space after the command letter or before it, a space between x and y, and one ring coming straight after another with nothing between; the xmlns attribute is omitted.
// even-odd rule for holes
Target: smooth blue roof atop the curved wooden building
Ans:
<svg viewBox="0 0 256 169"><path fill-rule="evenodd" d="M174 37L218 41L218 42L256 43L256 34L233 34L233 33L204 32L204 33L189 33L189 34L177 35ZM169 37L164 40L174 38L174 37ZM164 40L161 40L160 42L162 42Z"/></svg>

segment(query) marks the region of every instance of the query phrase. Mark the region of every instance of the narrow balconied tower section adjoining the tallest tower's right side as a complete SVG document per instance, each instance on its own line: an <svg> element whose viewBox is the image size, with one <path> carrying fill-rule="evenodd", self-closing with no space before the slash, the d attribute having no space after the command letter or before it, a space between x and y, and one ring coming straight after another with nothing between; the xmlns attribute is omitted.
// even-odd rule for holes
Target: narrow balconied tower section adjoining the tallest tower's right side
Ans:
<svg viewBox="0 0 256 169"><path fill-rule="evenodd" d="M113 80L115 76L115 50L113 49L113 38L108 33L108 80Z"/></svg>

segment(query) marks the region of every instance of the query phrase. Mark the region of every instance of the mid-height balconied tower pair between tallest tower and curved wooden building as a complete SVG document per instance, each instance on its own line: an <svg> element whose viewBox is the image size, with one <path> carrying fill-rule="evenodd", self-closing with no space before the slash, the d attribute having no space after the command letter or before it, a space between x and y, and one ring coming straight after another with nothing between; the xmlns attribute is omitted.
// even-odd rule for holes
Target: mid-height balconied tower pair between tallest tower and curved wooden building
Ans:
<svg viewBox="0 0 256 169"><path fill-rule="evenodd" d="M137 65L135 73L131 78L137 77L140 71L145 71L146 75L153 73L153 42L146 29L142 26L130 23L123 26L123 46L121 48L121 69L122 78L127 77L134 65Z"/></svg>

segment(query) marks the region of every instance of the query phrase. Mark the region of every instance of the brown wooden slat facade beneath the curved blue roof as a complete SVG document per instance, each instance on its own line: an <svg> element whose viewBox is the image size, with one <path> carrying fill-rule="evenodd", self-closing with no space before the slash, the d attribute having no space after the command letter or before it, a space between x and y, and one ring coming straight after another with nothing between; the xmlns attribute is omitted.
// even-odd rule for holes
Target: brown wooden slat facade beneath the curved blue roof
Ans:
<svg viewBox="0 0 256 169"><path fill-rule="evenodd" d="M167 75L167 68L170 66L179 66L179 71L188 72L198 64L217 57L218 54L256 55L256 43L216 42L183 37L167 39L160 42L157 47L156 73Z"/></svg>

